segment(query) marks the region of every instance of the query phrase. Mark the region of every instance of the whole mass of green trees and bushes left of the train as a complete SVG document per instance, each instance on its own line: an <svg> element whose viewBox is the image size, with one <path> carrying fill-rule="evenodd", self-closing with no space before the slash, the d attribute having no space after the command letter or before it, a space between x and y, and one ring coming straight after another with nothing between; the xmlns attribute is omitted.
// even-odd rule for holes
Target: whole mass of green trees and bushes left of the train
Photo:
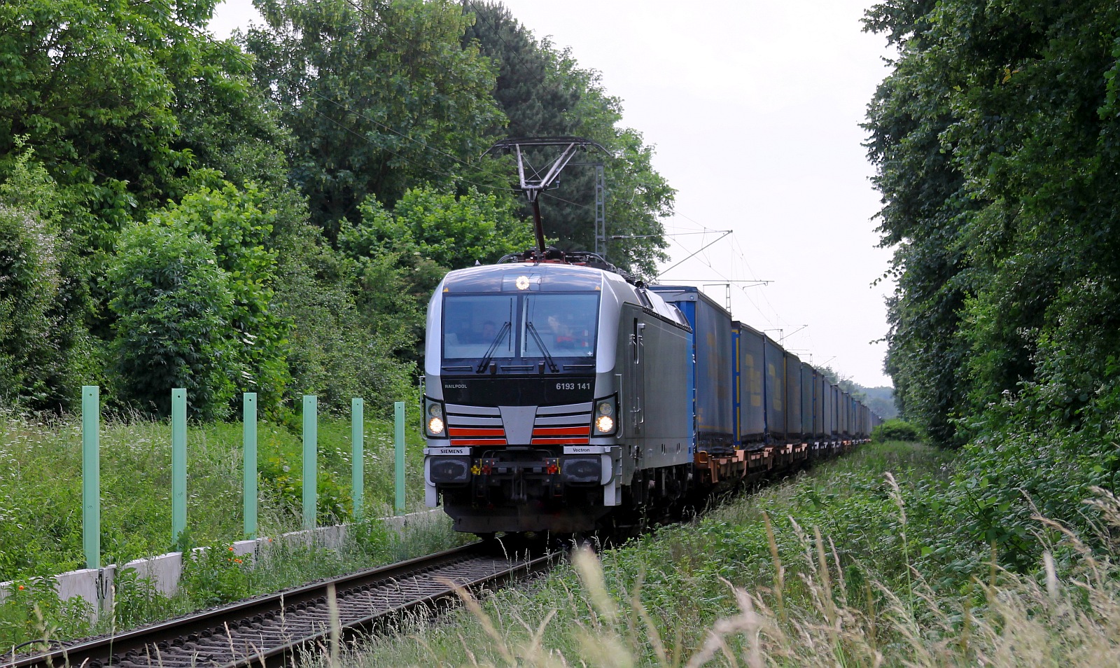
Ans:
<svg viewBox="0 0 1120 668"><path fill-rule="evenodd" d="M18 271L3 260L7 402L64 411L81 384L100 383L116 403L158 412L164 390L186 384L209 388L192 397L206 406L195 415L217 416L232 386L281 417L296 390L336 408L407 395L440 275L531 245L508 159L478 157L507 122L604 142L616 154L612 233L660 234L672 191L641 137L617 127L618 101L504 9L476 7L476 19L448 0L258 4L267 27L225 43L205 34L213 0L0 7L0 257L26 259ZM497 33L483 29L486 12L505 12ZM584 194L589 178L566 174ZM568 206L547 212L550 236L589 248L586 211ZM141 254L148 270L174 261L140 250L138 222L198 235L223 278L193 258L184 267L198 286L178 296L152 276L133 280L122 267ZM652 271L662 248L627 240L612 259ZM164 291L146 296L144 282ZM171 321L192 308L179 332ZM211 353L221 359L204 362Z"/></svg>

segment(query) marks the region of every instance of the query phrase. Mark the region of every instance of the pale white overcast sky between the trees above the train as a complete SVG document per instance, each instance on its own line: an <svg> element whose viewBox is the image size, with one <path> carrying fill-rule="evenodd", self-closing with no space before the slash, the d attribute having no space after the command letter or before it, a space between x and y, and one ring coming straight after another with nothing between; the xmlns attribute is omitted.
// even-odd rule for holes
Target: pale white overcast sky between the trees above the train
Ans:
<svg viewBox="0 0 1120 668"><path fill-rule="evenodd" d="M725 306L729 295L736 319L802 360L890 384L876 341L894 284L872 285L890 250L877 248L859 124L892 52L861 30L870 0L504 1L598 71L623 124L655 147L678 191L660 282L701 286ZM250 0L225 0L211 30L250 22L261 22Z"/></svg>

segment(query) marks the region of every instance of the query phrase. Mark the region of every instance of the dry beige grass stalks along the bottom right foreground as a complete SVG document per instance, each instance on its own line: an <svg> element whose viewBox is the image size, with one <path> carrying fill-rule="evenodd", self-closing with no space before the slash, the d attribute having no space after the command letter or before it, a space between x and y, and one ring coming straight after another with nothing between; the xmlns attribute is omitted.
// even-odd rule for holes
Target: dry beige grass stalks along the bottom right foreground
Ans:
<svg viewBox="0 0 1120 668"><path fill-rule="evenodd" d="M887 484L905 527L905 505L894 476L887 476ZM1120 501L1114 495L1100 494L1091 504L1100 508L1113 529L1120 529ZM853 583L842 583L843 565L836 542L830 538L827 549L820 529L814 528L809 535L794 521L792 531L805 556L800 573L805 599L804 604L796 604L802 590L797 596L790 594L785 566L778 556L778 537L765 513L762 519L774 566L773 588L766 591L773 595L775 609L768 607L762 596L724 581L734 594L737 612L710 624L685 662L689 668L712 664L750 668L1120 665L1120 567L1110 558L1093 554L1079 536L1058 522L1036 518L1040 526L1061 536L1068 554L1079 558L1073 575L1063 576L1054 553L1046 550L1037 579L1002 570L993 562L987 583L973 579L961 592L952 588L939 592L913 568L907 554L905 588L893 588L869 577L862 582L865 601L853 605L847 595L847 586ZM528 639L521 642L512 641L512 635L503 634L494 624L496 611L487 614L474 596L458 590L489 638L486 651L495 655L494 660L507 666L548 668L679 665L680 657L688 651L682 648L680 619L657 620L651 614L643 603L644 574L629 594L612 592L592 553L580 550L572 563L581 591L564 587L567 595L561 594L554 603L579 611L576 621L558 623L558 619L567 615L552 609L532 618L540 622L522 621ZM836 568L834 578L831 568ZM976 604L977 594L982 594L980 604ZM531 613L507 606L504 614L506 619L521 620L530 619ZM672 611L662 614L672 615ZM586 615L591 615L591 624L578 621ZM659 631L666 624L675 630L672 652L666 650ZM623 628L629 630L626 638L619 635ZM559 635L550 631L559 631ZM576 641L570 646L572 649L561 652L544 648L545 643L562 642L566 634ZM479 652L478 640L461 642ZM487 665L480 653L476 660L476 653L468 651L469 662Z"/></svg>

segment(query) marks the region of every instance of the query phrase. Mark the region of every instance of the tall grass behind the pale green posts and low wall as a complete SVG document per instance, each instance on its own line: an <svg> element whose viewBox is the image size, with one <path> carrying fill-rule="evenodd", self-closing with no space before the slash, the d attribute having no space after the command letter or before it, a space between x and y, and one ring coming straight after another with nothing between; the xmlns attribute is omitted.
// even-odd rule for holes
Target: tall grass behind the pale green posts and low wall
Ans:
<svg viewBox="0 0 1120 668"><path fill-rule="evenodd" d="M282 424L258 427L259 534L300 528L301 436ZM408 447L408 497L422 503L422 443ZM319 423L320 523L348 519L349 421ZM187 437L187 535L193 545L242 536L242 425L192 424ZM103 564L162 554L171 545L170 425L133 416L101 433ZM372 517L391 514L392 425L365 421L365 499ZM81 420L28 419L0 411L0 582L83 567Z"/></svg>

